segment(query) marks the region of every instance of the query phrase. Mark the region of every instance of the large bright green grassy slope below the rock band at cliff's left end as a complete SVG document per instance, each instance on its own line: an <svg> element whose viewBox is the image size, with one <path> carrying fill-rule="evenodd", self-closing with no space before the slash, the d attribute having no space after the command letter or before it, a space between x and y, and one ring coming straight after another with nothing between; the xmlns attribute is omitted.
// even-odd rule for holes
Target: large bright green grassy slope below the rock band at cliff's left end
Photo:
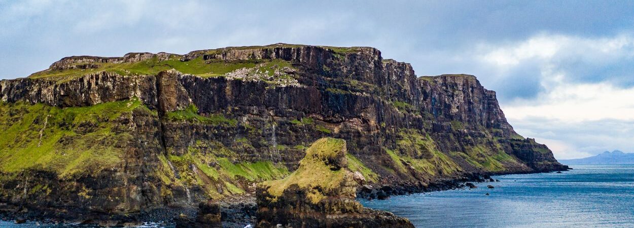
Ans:
<svg viewBox="0 0 634 228"><path fill-rule="evenodd" d="M60 178L119 167L132 142L117 118L149 111L138 99L87 107L0 103L0 171L47 170Z"/></svg>

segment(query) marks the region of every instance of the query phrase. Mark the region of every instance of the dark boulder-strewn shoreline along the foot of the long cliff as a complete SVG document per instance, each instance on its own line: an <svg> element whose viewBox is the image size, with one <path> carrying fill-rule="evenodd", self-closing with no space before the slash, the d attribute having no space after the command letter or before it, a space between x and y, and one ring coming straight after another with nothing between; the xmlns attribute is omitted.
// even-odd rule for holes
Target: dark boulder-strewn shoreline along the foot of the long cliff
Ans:
<svg viewBox="0 0 634 228"><path fill-rule="evenodd" d="M495 182L492 176L496 175L514 175L514 174L538 174L538 173L550 173L557 171L567 171L571 168L554 168L553 170L541 170L541 171L520 171L520 172L467 172L462 177L456 177L453 179L436 179L427 186L422 184L413 183L395 183L395 184L365 184L359 186L357 189L356 199L360 200L387 200L390 196L408 195L415 193L429 193L434 191L447 191L453 189L464 189L469 187L469 182ZM420 183L420 182L419 182ZM368 187L370 186L370 187ZM235 199L234 199L235 200ZM257 204L255 203L255 197L244 197L239 201L220 201L222 222L224 227L244 227L247 224L254 225L256 221ZM6 205L6 203L0 204ZM139 212L138 215L129 217L126 220L94 220L94 219L81 219L81 218L55 218L55 217L40 217L29 215L27 212L11 212L10 210L4 210L0 212L0 220L4 222L16 222L17 220L23 222L36 222L40 224L86 224L86 225L107 225L107 226L138 226L143 224L161 224L161 225L174 225L175 219L179 215L187 215L189 217L195 217L197 213L197 207L186 206L183 208L174 208L165 206L162 208L154 208L146 212ZM46 215L44 215L46 216Z"/></svg>

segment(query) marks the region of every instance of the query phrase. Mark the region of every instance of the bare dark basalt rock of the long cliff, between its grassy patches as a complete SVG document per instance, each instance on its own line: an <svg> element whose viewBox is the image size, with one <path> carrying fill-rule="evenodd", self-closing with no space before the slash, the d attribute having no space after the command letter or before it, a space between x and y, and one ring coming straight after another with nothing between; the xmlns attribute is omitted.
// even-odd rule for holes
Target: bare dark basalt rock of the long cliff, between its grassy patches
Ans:
<svg viewBox="0 0 634 228"><path fill-rule="evenodd" d="M173 54L72 56L54 63L49 70L94 68L99 63L131 63L150 58L165 60L169 56ZM76 179L60 178L47 167L0 173L0 204L6 205L0 206L0 212L13 216L28 208L28 213L20 214L29 219L134 222L157 210L191 210L209 198L205 185L181 186L162 181L165 177L160 170L171 170L174 179L186 178L179 170L165 167L162 156L184 155L194 147L200 151L223 148L235 153L230 161L234 164L271 162L293 171L304 157L301 148L322 137L345 139L347 152L377 175L375 181L363 183L370 187L359 188L358 195L363 198L384 199L392 194L452 189L465 181L489 179L488 174L569 168L557 162L545 145L517 135L501 111L495 92L484 89L472 75L417 77L408 63L384 60L380 51L372 47L352 47L342 53L330 47L280 44L214 53L193 51L179 57L182 61L202 57L205 61L226 63L288 61L293 69L285 72L297 80L297 85L203 78L176 70L156 75L98 72L63 80L0 80L0 105L41 103L67 108L138 98L146 107L110 120L116 126L112 134L131 137L95 143L115 144L124 151L121 165ZM195 114L201 117L231 121L218 124L166 117L171 111L190 106L197 107ZM2 129L23 119L23 113L7 114L15 121L0 126ZM32 120L32 126L39 130L43 119ZM95 125L86 122L74 134L80 137L94 130ZM62 137L57 143L68 144L71 139ZM210 141L213 144L198 144ZM0 149L0 153L12 152ZM508 158L500 160L502 168L494 172L474 164L475 158L469 155L474 153L477 158ZM420 163L417 166L417 162L429 161L440 162L429 163L430 170L420 168ZM328 163L332 170L346 168L342 160ZM217 162L208 165L220 167ZM185 166L189 170L195 167ZM226 191L222 188L224 183L209 182ZM42 183L47 183L46 189L37 190L36 186ZM231 184L250 194L255 191L250 180Z"/></svg>

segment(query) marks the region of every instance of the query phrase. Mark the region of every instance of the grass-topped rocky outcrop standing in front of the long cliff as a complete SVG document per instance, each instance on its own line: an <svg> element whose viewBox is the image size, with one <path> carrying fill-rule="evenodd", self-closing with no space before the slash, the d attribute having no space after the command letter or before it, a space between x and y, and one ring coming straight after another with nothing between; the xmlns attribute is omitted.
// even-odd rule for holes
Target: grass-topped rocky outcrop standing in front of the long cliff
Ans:
<svg viewBox="0 0 634 228"><path fill-rule="evenodd" d="M319 139L299 168L257 189L257 227L414 227L389 212L355 201L365 179L347 168L346 141Z"/></svg>

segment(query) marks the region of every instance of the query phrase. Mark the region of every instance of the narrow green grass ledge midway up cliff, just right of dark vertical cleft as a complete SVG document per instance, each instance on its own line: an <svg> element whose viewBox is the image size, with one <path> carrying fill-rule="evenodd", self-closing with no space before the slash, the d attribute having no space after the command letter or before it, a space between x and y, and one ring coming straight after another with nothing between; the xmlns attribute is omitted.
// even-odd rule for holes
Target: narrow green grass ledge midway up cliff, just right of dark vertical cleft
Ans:
<svg viewBox="0 0 634 228"><path fill-rule="evenodd" d="M198 108L193 104L187 106L184 110L167 112L165 113L165 118L171 121L200 122L212 125L230 125L233 127L238 124L238 120L226 118L220 113L210 114L209 117L199 115Z"/></svg>

